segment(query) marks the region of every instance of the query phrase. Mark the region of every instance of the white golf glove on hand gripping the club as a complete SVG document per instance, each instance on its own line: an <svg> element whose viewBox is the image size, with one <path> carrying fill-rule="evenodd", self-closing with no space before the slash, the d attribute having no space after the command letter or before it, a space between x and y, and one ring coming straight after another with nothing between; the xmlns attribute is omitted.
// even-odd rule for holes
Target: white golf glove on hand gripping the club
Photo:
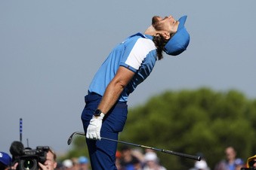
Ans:
<svg viewBox="0 0 256 170"><path fill-rule="evenodd" d="M102 126L102 120L105 114L100 114L99 117L92 116L90 124L87 128L86 138L100 140L100 129Z"/></svg>

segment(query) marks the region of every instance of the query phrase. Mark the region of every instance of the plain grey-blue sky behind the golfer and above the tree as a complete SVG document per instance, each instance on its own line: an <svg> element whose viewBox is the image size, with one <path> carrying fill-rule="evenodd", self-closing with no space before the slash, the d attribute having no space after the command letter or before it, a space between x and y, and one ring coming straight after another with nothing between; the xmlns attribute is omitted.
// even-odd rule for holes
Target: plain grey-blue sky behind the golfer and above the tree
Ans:
<svg viewBox="0 0 256 170"><path fill-rule="evenodd" d="M116 44L155 15L187 15L190 45L167 56L129 97L129 108L166 90L238 90L256 99L255 0L0 1L0 150L12 141L57 153L82 132L84 96ZM140 120L138 120L140 121ZM130 141L132 142L132 141Z"/></svg>

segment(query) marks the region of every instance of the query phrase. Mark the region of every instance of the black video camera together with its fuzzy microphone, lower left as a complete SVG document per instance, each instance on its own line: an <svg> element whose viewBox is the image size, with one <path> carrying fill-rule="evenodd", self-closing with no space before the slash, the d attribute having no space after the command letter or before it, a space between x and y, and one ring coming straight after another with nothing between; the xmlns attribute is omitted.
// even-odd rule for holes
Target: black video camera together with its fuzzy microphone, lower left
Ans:
<svg viewBox="0 0 256 170"><path fill-rule="evenodd" d="M48 146L38 146L32 150L29 147L24 148L21 142L14 141L10 152L13 156L13 164L18 162L17 170L38 170L39 162L43 164L46 161L49 149Z"/></svg>

